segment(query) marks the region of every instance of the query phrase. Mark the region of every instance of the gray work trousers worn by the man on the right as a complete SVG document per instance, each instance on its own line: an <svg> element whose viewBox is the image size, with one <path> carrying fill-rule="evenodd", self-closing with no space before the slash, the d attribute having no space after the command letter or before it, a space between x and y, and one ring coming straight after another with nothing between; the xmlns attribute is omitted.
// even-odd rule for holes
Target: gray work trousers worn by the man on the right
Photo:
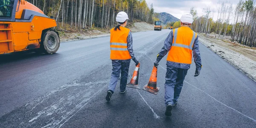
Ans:
<svg viewBox="0 0 256 128"><path fill-rule="evenodd" d="M174 105L180 96L188 69L167 66L165 83L165 104Z"/></svg>

